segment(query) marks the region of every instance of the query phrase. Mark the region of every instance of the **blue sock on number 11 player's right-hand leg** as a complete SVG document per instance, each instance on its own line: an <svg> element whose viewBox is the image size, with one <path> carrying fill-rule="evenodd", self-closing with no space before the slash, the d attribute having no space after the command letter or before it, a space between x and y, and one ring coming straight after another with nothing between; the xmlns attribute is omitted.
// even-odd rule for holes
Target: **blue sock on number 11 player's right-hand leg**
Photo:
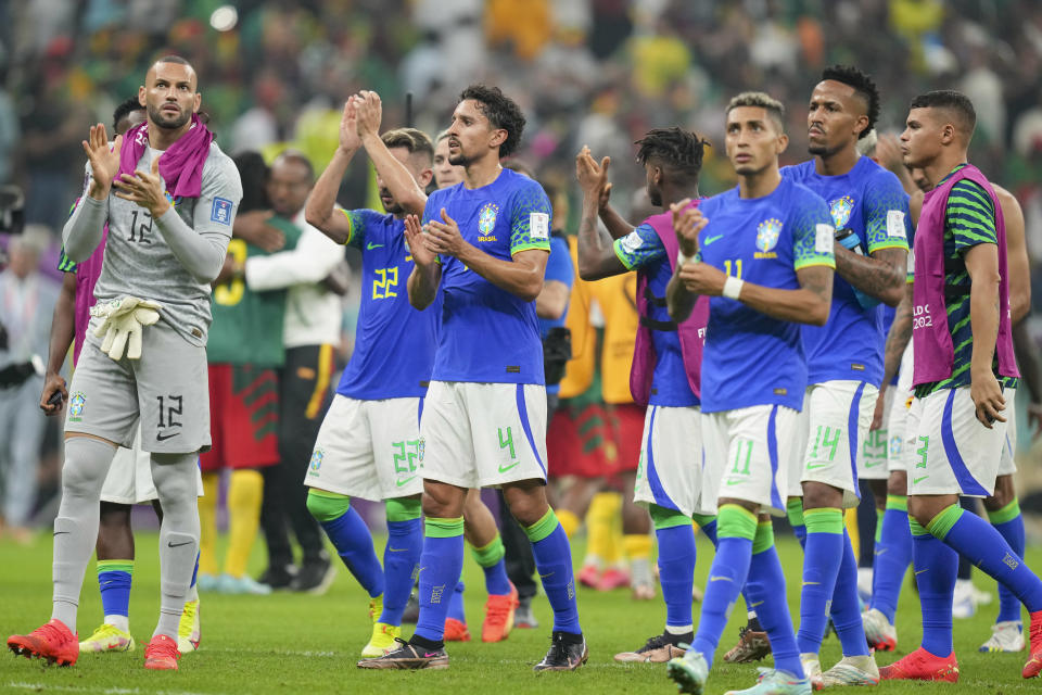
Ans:
<svg viewBox="0 0 1042 695"><path fill-rule="evenodd" d="M763 548L768 542L770 545ZM782 571L782 561L774 547L774 531L770 521L760 525L753 541L747 591L757 607L757 618L771 641L774 667L798 679L806 678L792 633L792 618L785 594L785 572Z"/></svg>

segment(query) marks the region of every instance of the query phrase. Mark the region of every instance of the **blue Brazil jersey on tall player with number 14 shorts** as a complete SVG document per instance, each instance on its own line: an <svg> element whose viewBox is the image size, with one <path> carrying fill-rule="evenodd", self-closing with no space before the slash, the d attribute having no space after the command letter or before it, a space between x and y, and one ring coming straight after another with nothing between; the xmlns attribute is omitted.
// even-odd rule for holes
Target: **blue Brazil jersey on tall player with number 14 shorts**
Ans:
<svg viewBox="0 0 1042 695"><path fill-rule="evenodd" d="M897 176L867 156L840 176L817 174L814 160L787 166L782 174L824 198L836 229L853 229L865 255L881 249L908 249L908 194ZM837 273L828 323L803 326L808 383L846 379L878 387L885 340L878 305L862 307L853 287Z"/></svg>

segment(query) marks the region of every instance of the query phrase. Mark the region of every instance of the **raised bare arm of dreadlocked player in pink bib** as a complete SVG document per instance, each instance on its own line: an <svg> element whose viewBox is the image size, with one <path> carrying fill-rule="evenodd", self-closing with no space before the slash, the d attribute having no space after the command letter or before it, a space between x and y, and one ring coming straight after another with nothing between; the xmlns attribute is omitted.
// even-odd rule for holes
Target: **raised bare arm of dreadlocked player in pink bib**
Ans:
<svg viewBox="0 0 1042 695"><path fill-rule="evenodd" d="M597 224L601 214L601 198L606 195L606 189L611 187L608 182L609 162L606 156L597 164L587 147L575 156L575 178L583 191L583 212L579 222L579 276L584 280L599 280L627 271L626 266L615 255L613 236ZM614 214L614 211L612 213ZM614 216L619 217L618 214ZM626 225L621 217L619 220L626 227L625 233L633 231L633 227Z"/></svg>

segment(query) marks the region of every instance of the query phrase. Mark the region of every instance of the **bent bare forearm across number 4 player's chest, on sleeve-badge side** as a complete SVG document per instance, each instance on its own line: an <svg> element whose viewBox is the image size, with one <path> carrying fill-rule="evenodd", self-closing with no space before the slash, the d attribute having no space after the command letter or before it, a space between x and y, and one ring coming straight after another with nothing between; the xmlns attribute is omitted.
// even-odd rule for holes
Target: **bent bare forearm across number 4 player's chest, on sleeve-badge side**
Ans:
<svg viewBox="0 0 1042 695"><path fill-rule="evenodd" d="M431 252L455 256L499 289L520 296L525 302L535 301L543 289L543 275L549 253L541 249L529 249L514 253L510 261L496 258L468 243L459 233L456 220L445 213L445 208L442 208L441 217L441 220L432 219L427 225L423 241Z"/></svg>

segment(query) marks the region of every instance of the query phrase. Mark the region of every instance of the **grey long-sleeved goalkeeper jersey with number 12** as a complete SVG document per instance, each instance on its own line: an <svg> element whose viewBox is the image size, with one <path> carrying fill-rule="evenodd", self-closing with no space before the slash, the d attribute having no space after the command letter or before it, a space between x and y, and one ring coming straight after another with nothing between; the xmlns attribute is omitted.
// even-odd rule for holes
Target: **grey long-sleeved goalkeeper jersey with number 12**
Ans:
<svg viewBox="0 0 1042 695"><path fill-rule="evenodd" d="M153 154L151 148L145 149L138 162L138 170L151 169ZM65 224L63 238L69 257L76 262L82 261L84 258L77 258L69 253L74 245L82 247L82 243L74 244L72 239L88 239L92 242L92 251L97 247L93 236L100 238L100 229L107 222L109 237L105 241L101 277L94 286L94 298L103 302L132 295L158 302L163 306L160 312L162 320L173 326L189 343L205 345L207 330L213 320L209 312L209 281L213 278L200 277L190 271L186 262L175 255L168 239L174 239L176 233L199 235L208 242L204 245L194 244L196 250L208 254L208 257L204 258L207 269L213 269L216 255L219 254L220 261L224 261L224 253L231 239L236 211L242 200L239 170L231 157L225 154L216 142L211 143L209 154L203 165L199 198L174 201L171 210L158 220L152 219L149 211L137 203L117 198L115 187L105 201L89 198L89 164L87 174L87 186ZM166 181L163 181L163 185L166 190ZM203 239L188 241L198 242ZM183 248L181 244L181 249ZM186 258L191 254L182 251L181 255ZM216 269L219 267L217 264ZM216 277L216 270L213 275Z"/></svg>

